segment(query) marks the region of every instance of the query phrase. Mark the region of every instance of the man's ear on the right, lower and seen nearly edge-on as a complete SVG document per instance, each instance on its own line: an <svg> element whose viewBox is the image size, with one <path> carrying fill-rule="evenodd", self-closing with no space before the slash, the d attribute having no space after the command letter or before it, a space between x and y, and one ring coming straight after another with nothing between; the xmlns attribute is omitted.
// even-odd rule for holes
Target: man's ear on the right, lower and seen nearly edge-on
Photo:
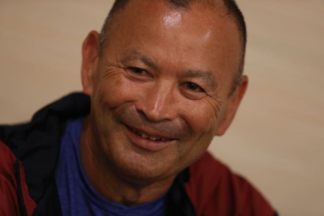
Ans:
<svg viewBox="0 0 324 216"><path fill-rule="evenodd" d="M225 134L227 128L229 127L229 125L231 124L235 116L238 105L242 100L247 90L247 87L248 87L248 77L242 76L240 84L238 85L234 93L229 98L229 102L225 107L225 112L223 113L223 116L221 116L221 121L219 123L219 127L217 128L215 135L222 136L223 134Z"/></svg>

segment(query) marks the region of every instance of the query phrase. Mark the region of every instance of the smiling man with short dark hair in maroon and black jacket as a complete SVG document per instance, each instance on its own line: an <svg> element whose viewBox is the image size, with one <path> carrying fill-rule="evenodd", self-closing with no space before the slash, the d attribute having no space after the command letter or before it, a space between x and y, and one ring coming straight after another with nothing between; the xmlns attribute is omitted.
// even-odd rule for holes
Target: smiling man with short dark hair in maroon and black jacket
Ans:
<svg viewBox="0 0 324 216"><path fill-rule="evenodd" d="M84 41L84 94L0 129L4 215L274 215L206 153L248 84L233 1L116 1Z"/></svg>

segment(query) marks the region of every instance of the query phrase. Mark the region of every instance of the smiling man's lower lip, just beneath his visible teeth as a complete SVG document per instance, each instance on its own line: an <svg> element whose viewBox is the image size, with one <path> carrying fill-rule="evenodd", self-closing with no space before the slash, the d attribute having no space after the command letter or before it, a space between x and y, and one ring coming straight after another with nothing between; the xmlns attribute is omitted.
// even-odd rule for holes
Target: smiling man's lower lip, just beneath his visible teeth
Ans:
<svg viewBox="0 0 324 216"><path fill-rule="evenodd" d="M164 148L167 148L168 146L172 145L172 143L175 140L168 140L168 141L152 141L150 139L142 138L139 134L136 132L133 132L129 127L126 126L126 128L129 131L131 141L146 150L150 151L160 151L163 150Z"/></svg>

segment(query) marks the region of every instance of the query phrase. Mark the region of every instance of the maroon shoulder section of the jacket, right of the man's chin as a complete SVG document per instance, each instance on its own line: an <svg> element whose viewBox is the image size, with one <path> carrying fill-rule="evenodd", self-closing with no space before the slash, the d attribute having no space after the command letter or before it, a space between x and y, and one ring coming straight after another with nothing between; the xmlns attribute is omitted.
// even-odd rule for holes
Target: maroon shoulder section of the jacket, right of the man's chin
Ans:
<svg viewBox="0 0 324 216"><path fill-rule="evenodd" d="M206 152L189 167L186 190L197 215L274 215L247 180Z"/></svg>

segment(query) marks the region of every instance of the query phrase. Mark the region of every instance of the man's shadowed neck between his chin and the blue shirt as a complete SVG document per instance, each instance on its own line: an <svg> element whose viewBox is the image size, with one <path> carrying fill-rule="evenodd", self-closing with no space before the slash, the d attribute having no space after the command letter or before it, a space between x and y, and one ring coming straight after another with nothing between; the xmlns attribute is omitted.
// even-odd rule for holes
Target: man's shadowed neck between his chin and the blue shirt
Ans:
<svg viewBox="0 0 324 216"><path fill-rule="evenodd" d="M90 127L89 117L83 121L80 156L86 176L95 190L107 199L134 206L163 196L175 176L162 180L141 180L120 173L98 149Z"/></svg>

